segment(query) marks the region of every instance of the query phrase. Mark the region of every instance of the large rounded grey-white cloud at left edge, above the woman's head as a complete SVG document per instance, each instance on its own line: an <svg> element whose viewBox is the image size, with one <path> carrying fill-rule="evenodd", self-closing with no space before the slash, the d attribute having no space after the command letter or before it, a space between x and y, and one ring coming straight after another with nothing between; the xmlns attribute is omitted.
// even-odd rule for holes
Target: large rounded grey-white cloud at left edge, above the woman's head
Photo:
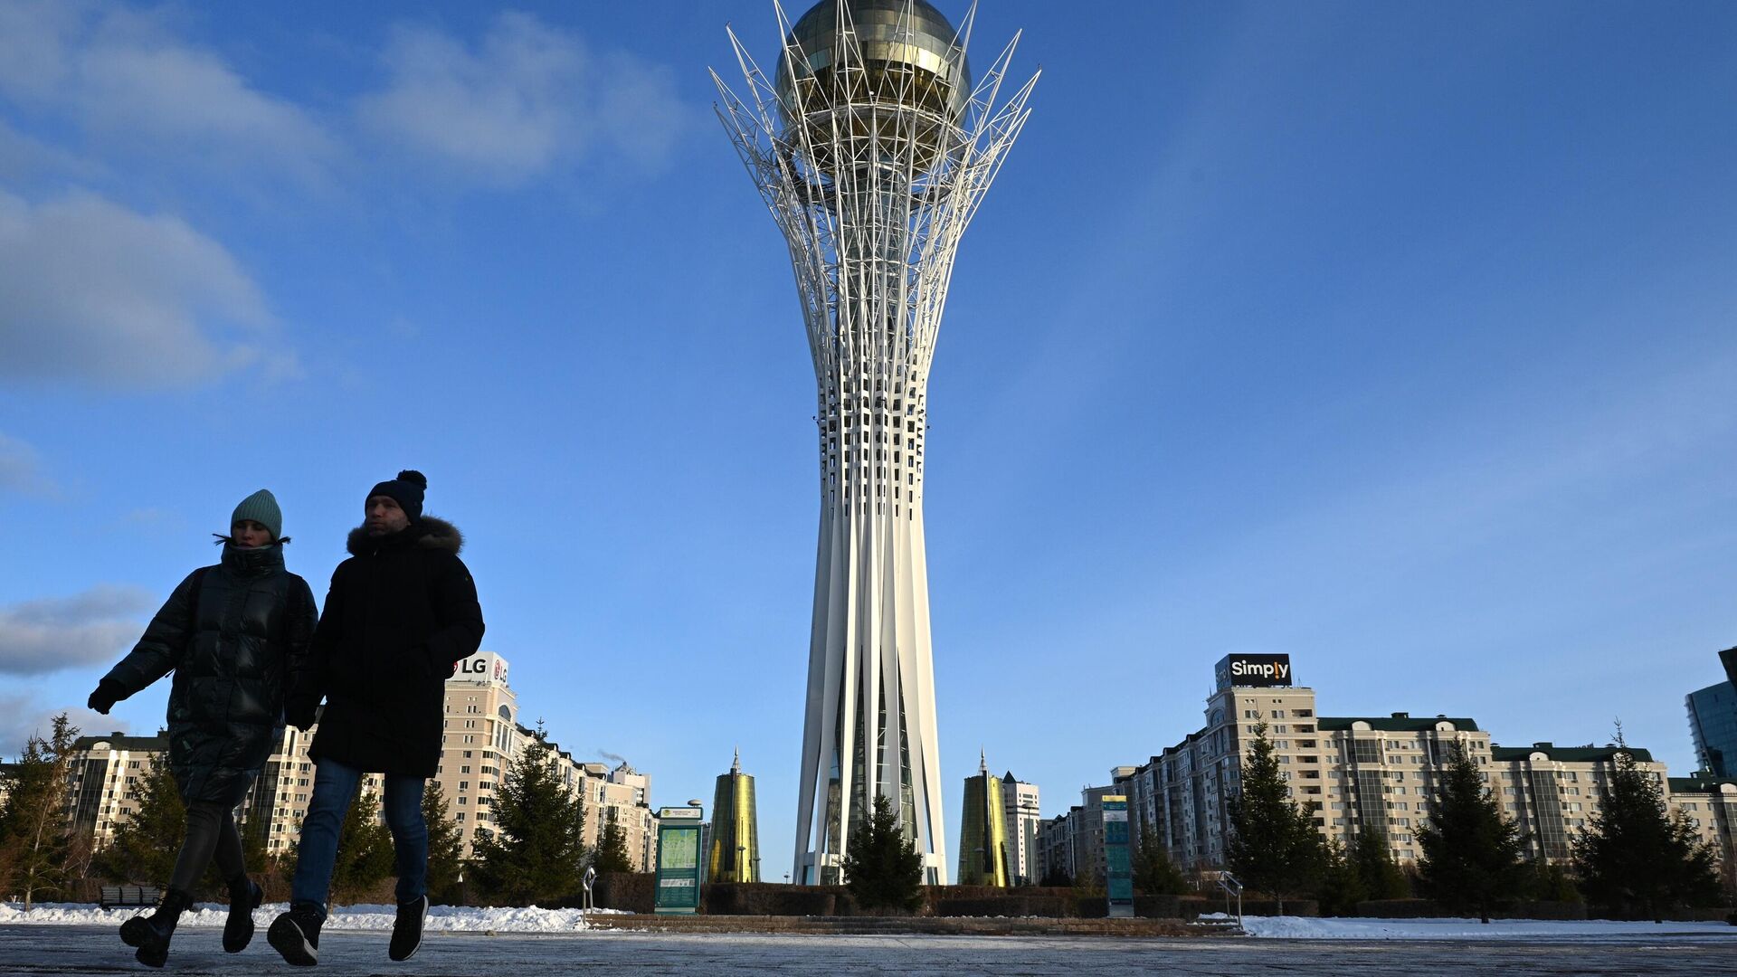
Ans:
<svg viewBox="0 0 1737 977"><path fill-rule="evenodd" d="M94 195L30 205L0 191L0 377L148 389L294 369L222 245Z"/></svg>

